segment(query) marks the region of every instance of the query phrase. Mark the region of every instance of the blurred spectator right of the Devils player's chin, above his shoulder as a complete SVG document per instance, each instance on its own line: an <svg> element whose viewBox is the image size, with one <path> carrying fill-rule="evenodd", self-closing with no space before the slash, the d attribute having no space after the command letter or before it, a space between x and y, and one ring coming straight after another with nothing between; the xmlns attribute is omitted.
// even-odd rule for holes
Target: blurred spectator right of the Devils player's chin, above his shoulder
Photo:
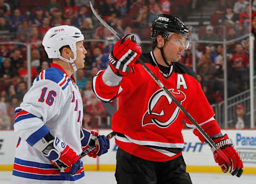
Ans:
<svg viewBox="0 0 256 184"><path fill-rule="evenodd" d="M216 69L209 55L204 54L201 57L201 60L197 64L196 72L204 76L205 82L212 83Z"/></svg>

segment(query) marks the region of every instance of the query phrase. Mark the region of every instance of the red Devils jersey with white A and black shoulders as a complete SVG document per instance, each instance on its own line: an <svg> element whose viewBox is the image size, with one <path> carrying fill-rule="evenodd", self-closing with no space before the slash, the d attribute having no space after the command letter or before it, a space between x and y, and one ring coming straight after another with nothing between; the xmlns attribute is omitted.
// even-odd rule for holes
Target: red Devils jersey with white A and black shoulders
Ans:
<svg viewBox="0 0 256 184"><path fill-rule="evenodd" d="M164 77L153 52L140 57L209 136L220 133L212 107L193 70L174 63L169 75ZM136 63L134 72L123 77L115 87L102 81L103 72L93 78L93 90L105 102L119 98L112 129L119 133L115 137L116 144L126 152L150 161L168 161L178 157L184 144L181 133L183 119L202 142L205 140L141 64Z"/></svg>

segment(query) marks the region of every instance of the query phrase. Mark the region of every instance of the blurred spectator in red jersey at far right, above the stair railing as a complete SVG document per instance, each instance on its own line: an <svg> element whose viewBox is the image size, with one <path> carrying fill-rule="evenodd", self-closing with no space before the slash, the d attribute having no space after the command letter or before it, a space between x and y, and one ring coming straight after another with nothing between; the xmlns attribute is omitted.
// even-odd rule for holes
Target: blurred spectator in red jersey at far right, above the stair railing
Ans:
<svg viewBox="0 0 256 184"><path fill-rule="evenodd" d="M230 64L230 75L234 82L239 83L239 91L247 89L249 85L249 56L244 53L241 44L236 44L236 53L233 54Z"/></svg>

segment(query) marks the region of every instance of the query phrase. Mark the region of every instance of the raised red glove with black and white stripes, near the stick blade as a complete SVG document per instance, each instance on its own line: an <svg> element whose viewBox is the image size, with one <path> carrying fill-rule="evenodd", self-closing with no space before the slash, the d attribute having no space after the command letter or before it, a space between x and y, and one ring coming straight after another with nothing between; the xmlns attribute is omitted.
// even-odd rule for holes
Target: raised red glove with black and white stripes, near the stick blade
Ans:
<svg viewBox="0 0 256 184"><path fill-rule="evenodd" d="M108 56L110 67L117 76L127 76L135 61L142 53L137 45L134 35L126 35L122 40L117 41L113 52Z"/></svg>

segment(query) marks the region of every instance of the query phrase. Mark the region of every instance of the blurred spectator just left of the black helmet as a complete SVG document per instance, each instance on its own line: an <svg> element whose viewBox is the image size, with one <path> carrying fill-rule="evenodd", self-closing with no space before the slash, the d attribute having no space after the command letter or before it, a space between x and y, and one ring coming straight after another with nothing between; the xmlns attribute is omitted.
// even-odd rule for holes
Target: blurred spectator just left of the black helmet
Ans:
<svg viewBox="0 0 256 184"><path fill-rule="evenodd" d="M143 5L141 7L135 22L137 22L136 25L140 29L149 27L149 9L148 9L148 5Z"/></svg>

